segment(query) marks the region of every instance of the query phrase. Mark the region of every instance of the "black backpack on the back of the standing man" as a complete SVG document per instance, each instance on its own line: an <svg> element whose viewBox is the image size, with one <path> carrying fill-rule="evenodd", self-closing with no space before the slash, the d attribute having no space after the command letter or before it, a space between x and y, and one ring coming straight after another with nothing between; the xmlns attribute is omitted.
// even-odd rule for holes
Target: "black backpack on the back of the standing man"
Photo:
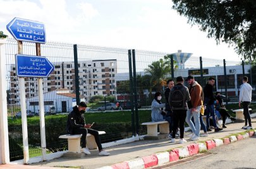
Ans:
<svg viewBox="0 0 256 169"><path fill-rule="evenodd" d="M183 86L174 86L173 92L171 93L171 107L183 107L184 95L182 92Z"/></svg>

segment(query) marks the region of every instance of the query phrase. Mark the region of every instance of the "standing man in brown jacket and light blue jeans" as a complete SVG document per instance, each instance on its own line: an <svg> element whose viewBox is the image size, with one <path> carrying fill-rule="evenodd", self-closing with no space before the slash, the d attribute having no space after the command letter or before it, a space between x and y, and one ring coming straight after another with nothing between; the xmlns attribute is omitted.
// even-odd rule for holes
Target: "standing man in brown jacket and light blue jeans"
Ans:
<svg viewBox="0 0 256 169"><path fill-rule="evenodd" d="M188 81L188 90L190 92L191 100L188 102L188 110L186 111L186 123L192 129L191 139L193 141L198 140L200 134L200 110L202 108L202 97L203 91L202 87L195 81L193 76L188 76L186 78ZM192 117L195 125L192 122Z"/></svg>

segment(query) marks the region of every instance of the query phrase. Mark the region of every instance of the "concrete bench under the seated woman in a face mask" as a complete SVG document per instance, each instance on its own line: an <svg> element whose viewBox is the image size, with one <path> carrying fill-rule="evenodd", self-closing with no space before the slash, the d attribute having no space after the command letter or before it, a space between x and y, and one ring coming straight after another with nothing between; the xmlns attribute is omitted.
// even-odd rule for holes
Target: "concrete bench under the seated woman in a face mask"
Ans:
<svg viewBox="0 0 256 169"><path fill-rule="evenodd" d="M169 134L169 122L168 121L160 121L160 122L144 122L142 125L147 125L147 136L157 137L157 125L159 125L159 133L160 134ZM158 137L159 138L159 137Z"/></svg>

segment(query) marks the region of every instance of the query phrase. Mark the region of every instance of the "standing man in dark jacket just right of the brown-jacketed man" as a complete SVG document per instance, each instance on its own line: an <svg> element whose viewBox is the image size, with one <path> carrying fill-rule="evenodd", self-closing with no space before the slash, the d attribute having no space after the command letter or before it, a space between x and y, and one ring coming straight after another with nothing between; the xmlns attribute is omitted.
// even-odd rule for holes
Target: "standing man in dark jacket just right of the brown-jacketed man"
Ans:
<svg viewBox="0 0 256 169"><path fill-rule="evenodd" d="M213 86L215 83L215 79L210 77L208 79L208 83L204 87L204 105L206 105L206 123L207 123L207 131L212 131L210 129L210 115L212 116L212 123L215 128L215 132L221 131L222 129L219 129L216 124L216 119L215 119L215 111L214 111L214 103L216 103L216 98L214 97L213 93Z"/></svg>

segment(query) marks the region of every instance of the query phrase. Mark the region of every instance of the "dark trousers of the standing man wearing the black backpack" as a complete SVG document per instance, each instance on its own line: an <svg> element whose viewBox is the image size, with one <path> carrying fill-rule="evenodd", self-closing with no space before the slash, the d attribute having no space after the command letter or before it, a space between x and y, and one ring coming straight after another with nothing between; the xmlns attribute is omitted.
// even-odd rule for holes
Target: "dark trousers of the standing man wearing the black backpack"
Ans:
<svg viewBox="0 0 256 169"><path fill-rule="evenodd" d="M185 119L186 110L173 110L173 138L175 138L176 131L178 129L178 126L180 125L180 138L183 139Z"/></svg>

